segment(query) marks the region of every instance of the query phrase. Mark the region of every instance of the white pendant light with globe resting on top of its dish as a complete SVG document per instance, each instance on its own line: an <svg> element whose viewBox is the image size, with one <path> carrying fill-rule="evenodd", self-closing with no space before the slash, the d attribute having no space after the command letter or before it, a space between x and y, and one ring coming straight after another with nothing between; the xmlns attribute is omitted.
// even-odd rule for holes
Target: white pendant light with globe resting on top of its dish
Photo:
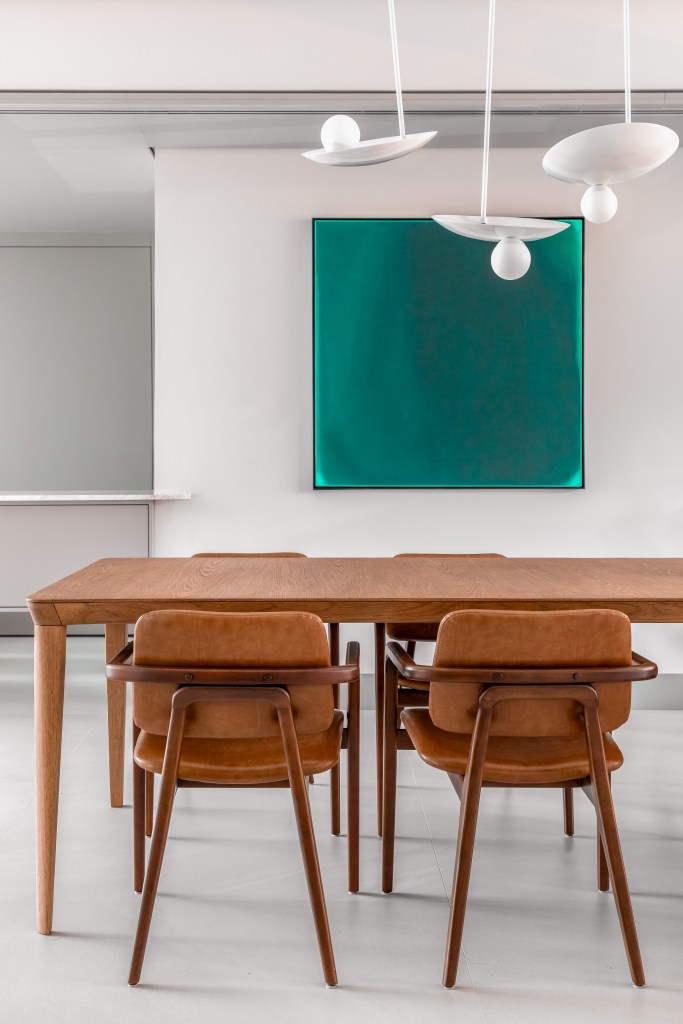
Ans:
<svg viewBox="0 0 683 1024"><path fill-rule="evenodd" d="M361 142L360 129L353 118L349 118L346 114L336 114L334 117L328 118L323 125L321 132L323 148L310 150L308 153L302 154L307 160L313 160L316 164L328 164L332 167L362 167L366 164L383 164L387 160L396 160L398 157L408 156L415 150L420 150L436 134L435 131L423 131L414 135L405 134L394 0L389 0L389 29L398 110L398 134L389 138L369 138Z"/></svg>

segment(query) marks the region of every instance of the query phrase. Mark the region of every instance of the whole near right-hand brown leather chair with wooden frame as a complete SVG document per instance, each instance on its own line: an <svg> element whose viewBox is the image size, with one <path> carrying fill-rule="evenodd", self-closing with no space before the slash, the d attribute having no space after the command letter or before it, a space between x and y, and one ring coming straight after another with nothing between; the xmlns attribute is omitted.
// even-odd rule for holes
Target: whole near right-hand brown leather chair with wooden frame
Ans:
<svg viewBox="0 0 683 1024"><path fill-rule="evenodd" d="M449 772L461 798L443 984L456 983L481 786L581 787L598 820L598 887L611 879L631 977L645 977L610 776L624 758L611 736L631 710L631 681L656 666L631 651L621 611L454 611L432 666L388 645L382 889L393 886L398 689L429 684L428 708L400 718L423 761Z"/></svg>

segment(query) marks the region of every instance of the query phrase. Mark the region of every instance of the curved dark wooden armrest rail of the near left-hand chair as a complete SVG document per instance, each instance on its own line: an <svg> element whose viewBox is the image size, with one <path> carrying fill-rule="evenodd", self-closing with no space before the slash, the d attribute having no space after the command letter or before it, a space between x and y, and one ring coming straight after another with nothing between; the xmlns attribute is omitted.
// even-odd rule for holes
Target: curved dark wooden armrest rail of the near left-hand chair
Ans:
<svg viewBox="0 0 683 1024"><path fill-rule="evenodd" d="M176 686L335 686L355 682L359 678L359 653L353 653L357 644L350 643L351 660L347 653L346 665L322 666L311 669L207 669L191 666L182 669L156 665L133 665L133 643L106 665L106 678L127 683L174 683ZM355 658L355 659L354 659Z"/></svg>

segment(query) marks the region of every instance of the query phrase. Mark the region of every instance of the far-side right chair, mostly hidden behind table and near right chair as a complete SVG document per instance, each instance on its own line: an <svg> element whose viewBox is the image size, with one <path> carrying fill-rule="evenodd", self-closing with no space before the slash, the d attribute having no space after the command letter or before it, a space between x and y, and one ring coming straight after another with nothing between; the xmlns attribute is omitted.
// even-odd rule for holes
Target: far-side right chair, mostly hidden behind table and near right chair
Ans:
<svg viewBox="0 0 683 1024"><path fill-rule="evenodd" d="M400 554L394 558L505 558L496 554ZM384 768L382 749L384 744L384 657L387 637L389 640L400 640L411 657L415 657L418 642L433 643L436 640L439 623L376 623L375 624L375 742L377 757L377 834L382 835L382 794L384 790ZM429 683L401 687L398 691L398 707L424 707L427 703ZM403 732L403 730L401 730ZM410 737L403 732L402 741L407 745L401 750L412 750Z"/></svg>

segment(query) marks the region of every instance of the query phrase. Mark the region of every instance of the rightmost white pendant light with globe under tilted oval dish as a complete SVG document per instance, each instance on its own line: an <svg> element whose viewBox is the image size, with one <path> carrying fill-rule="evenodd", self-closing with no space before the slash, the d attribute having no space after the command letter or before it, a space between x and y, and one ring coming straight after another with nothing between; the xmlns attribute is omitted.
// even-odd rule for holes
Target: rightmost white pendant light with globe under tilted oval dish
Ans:
<svg viewBox="0 0 683 1024"><path fill-rule="evenodd" d="M678 135L671 128L631 120L629 0L624 0L624 79L626 117L622 124L569 135L543 158L543 169L552 177L588 185L581 209L594 224L604 224L616 213L618 203L610 185L648 174L678 148Z"/></svg>

